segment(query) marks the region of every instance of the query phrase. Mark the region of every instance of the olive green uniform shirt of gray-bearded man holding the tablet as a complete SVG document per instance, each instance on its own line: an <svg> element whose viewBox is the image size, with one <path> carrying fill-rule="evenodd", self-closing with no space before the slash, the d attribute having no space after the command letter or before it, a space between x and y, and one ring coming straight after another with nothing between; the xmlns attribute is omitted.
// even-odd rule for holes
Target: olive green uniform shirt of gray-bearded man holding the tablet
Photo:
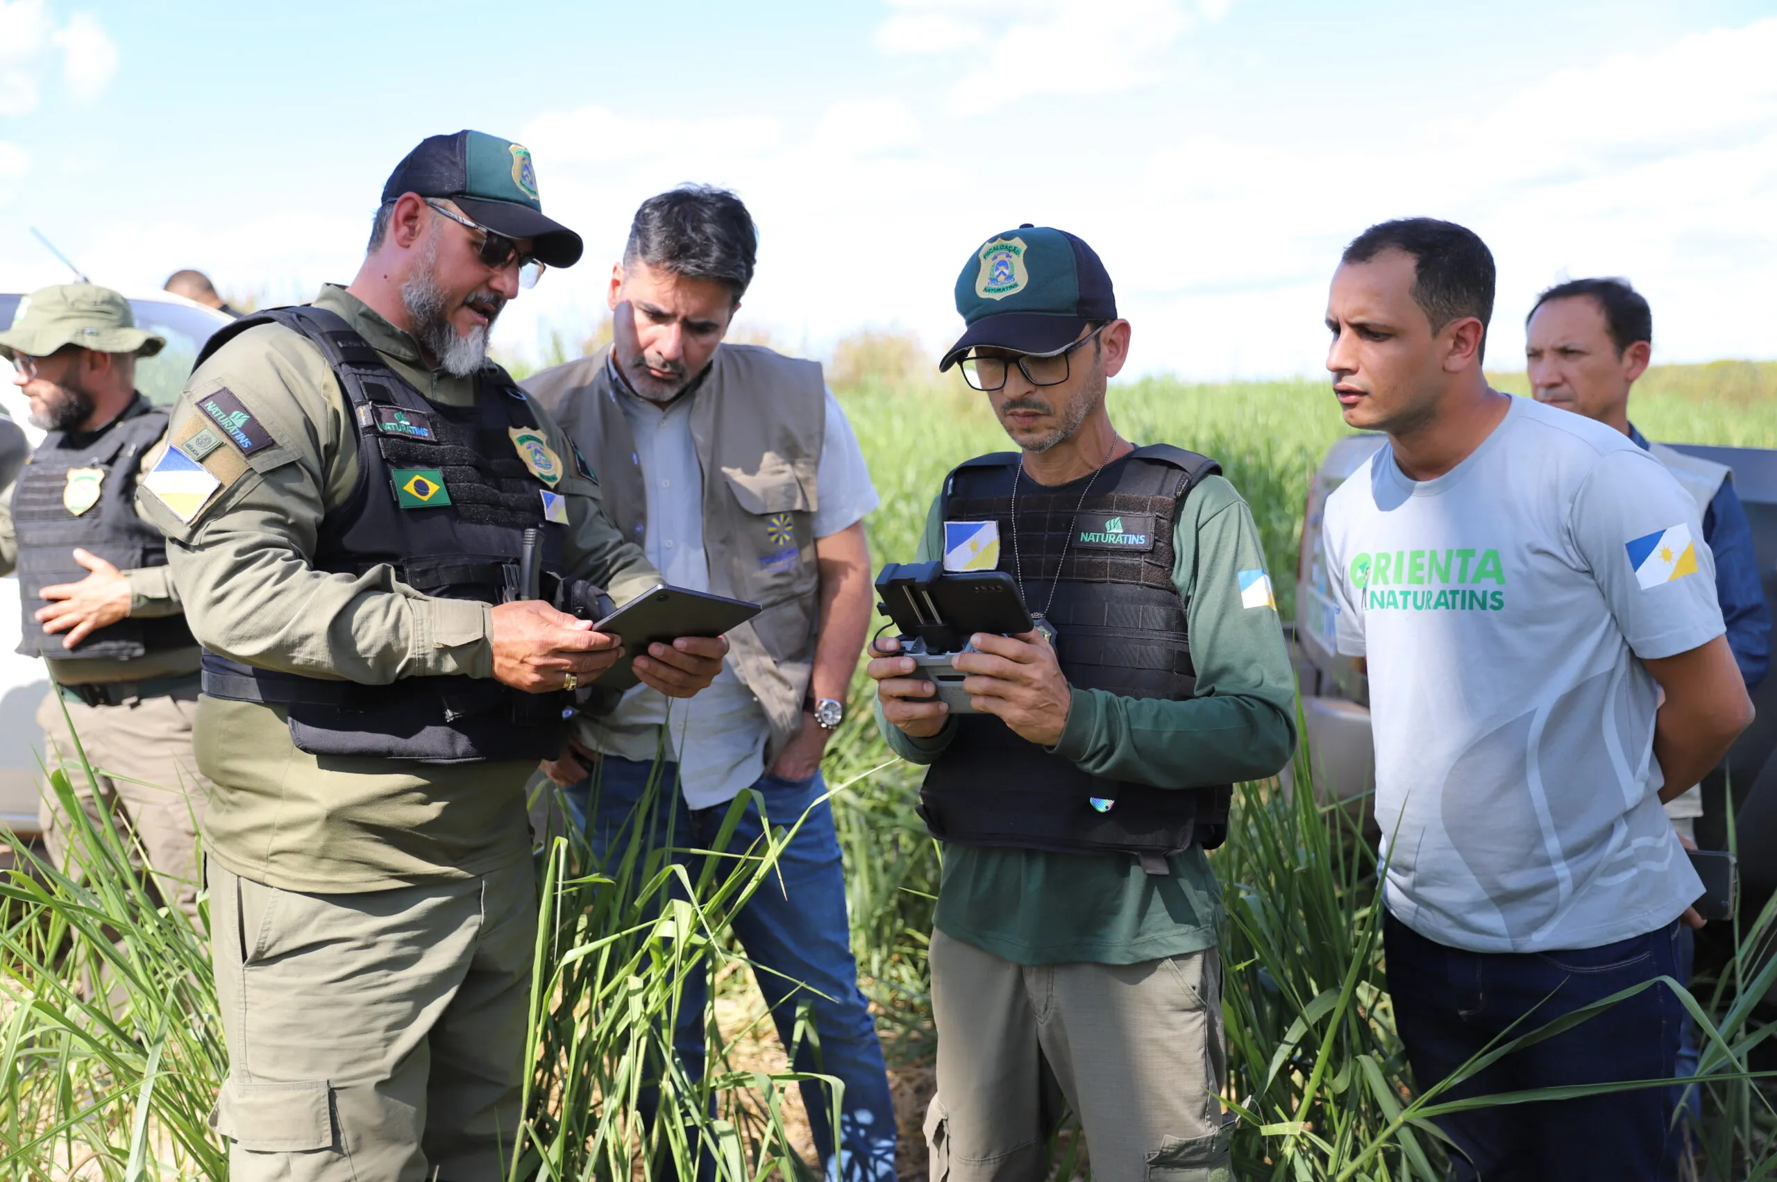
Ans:
<svg viewBox="0 0 1777 1182"><path fill-rule="evenodd" d="M345 316L426 398L474 403L473 377L425 368L407 332L343 288L323 288L315 306ZM363 574L311 565L322 515L345 505L359 473L357 425L320 348L283 325L247 329L192 373L169 439L206 421L197 402L222 387L274 446L243 459L224 441L208 453L203 466L224 487L190 523L151 491L137 496L142 515L172 539L172 578L197 640L258 668L361 684L492 675L489 604L423 595L387 565ZM562 428L531 409L556 455L570 457ZM570 471L554 491L567 498L567 574L606 585L618 603L659 581L606 519L595 482ZM537 761L316 757L291 743L281 707L211 697L199 700L195 748L215 782L206 853L254 882L380 890L483 875L530 855L522 789Z"/></svg>

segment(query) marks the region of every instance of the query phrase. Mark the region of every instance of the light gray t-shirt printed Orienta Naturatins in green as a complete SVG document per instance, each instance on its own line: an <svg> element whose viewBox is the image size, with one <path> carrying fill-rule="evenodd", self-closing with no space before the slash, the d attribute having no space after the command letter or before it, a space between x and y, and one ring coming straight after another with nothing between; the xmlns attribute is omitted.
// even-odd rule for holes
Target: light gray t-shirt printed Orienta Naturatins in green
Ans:
<svg viewBox="0 0 1777 1182"><path fill-rule="evenodd" d="M1697 507L1656 459L1512 398L1455 469L1381 448L1326 507L1338 647L1370 668L1388 910L1482 953L1596 947L1702 883L1660 809L1658 684L1720 636Z"/></svg>

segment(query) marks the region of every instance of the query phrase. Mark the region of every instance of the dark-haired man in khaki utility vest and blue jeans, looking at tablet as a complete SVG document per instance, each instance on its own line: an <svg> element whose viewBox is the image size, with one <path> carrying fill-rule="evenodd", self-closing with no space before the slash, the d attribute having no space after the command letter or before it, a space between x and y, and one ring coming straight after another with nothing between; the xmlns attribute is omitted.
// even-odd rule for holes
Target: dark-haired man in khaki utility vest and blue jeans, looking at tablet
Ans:
<svg viewBox="0 0 1777 1182"><path fill-rule="evenodd" d="M524 382L592 457L611 517L670 583L764 604L734 629L709 693L672 707L631 690L615 713L581 718L574 754L546 764L595 850L650 832L714 846L730 802L752 789L730 848L766 819L793 825L771 887L734 919L785 1049L796 1006L814 1008L819 1058L796 1070L846 1090L839 1177L894 1178L896 1123L881 1043L857 985L846 882L821 754L844 716L873 588L864 515L876 489L821 366L753 345L723 345L753 277L757 231L739 197L682 187L636 210L611 272L613 341ZM665 755L661 755L665 752ZM656 759L666 761L649 795ZM638 805L654 800L656 814ZM693 880L697 867L691 869ZM704 1065L707 981L688 981L675 1031ZM823 1162L835 1155L830 1102L805 1082Z"/></svg>

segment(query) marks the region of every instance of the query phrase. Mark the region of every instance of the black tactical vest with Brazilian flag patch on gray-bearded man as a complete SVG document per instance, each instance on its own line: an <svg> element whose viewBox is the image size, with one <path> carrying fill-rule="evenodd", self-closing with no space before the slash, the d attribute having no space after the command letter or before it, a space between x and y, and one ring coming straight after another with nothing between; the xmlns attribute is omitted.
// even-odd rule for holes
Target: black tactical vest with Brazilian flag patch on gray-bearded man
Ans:
<svg viewBox="0 0 1777 1182"><path fill-rule="evenodd" d="M311 562L316 571L363 574L387 563L426 595L498 604L519 595L524 531L537 530L542 597L565 611L597 611L597 588L560 576L563 526L546 521L540 492L547 485L519 459L510 434L537 430L538 421L505 370L483 370L473 407L441 405L396 373L345 318L311 306L267 309L220 329L197 364L261 323L281 323L322 350L357 425L357 483L322 517ZM316 755L553 759L567 734L569 695L524 693L492 677L402 677L366 686L204 652L203 684L210 697L286 707L291 741Z"/></svg>

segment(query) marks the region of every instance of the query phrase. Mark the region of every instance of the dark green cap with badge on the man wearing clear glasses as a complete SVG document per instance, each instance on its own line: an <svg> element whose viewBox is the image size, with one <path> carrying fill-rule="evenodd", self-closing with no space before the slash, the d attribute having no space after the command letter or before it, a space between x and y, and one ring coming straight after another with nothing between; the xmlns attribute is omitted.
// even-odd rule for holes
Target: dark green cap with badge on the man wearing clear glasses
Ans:
<svg viewBox="0 0 1777 1182"><path fill-rule="evenodd" d="M1064 229L1032 226L993 235L956 276L956 311L968 325L938 363L949 370L970 348L1052 354L1096 320L1116 320L1111 274Z"/></svg>

